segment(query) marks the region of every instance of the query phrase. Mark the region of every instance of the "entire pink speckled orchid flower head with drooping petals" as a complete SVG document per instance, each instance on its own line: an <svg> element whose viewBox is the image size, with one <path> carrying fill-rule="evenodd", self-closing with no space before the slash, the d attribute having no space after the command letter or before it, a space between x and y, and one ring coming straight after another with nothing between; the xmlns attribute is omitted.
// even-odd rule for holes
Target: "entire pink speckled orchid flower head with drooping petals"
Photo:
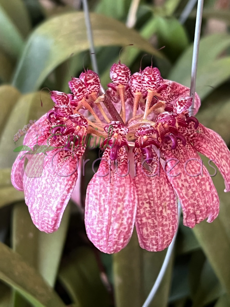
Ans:
<svg viewBox="0 0 230 307"><path fill-rule="evenodd" d="M25 172L26 155L20 160L19 154L12 183L25 192L36 227L56 231L77 181L86 135L93 135L103 156L86 192L89 239L102 252L118 252L135 224L140 246L161 251L177 230L178 200L188 227L218 215L217 191L198 152L217 165L225 192L230 191L230 153L216 132L190 114L190 89L163 79L158 68L131 75L119 62L110 78L104 91L98 75L88 70L69 82L72 94L51 91L54 107L36 122L41 133L29 128L24 145L54 149L43 156L40 177L36 156L42 153L28 155ZM193 114L199 107L195 94Z"/></svg>

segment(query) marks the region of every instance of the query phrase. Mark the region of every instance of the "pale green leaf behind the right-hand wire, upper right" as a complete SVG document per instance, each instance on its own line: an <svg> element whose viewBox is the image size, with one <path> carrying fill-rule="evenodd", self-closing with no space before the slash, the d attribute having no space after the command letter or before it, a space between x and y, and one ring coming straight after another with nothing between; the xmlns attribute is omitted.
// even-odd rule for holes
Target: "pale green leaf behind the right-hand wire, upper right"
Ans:
<svg viewBox="0 0 230 307"><path fill-rule="evenodd" d="M218 33L202 38L199 48L196 91L201 99L205 98L213 87L219 86L230 76L230 57L216 59L230 45L230 36ZM193 44L182 54L168 79L190 86Z"/></svg>

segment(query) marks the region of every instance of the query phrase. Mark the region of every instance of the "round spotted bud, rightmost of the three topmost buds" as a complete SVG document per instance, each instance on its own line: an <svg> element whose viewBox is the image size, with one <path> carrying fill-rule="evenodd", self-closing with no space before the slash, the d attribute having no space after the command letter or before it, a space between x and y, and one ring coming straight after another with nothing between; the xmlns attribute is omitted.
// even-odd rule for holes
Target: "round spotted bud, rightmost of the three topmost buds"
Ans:
<svg viewBox="0 0 230 307"><path fill-rule="evenodd" d="M141 73L142 86L146 91L154 91L160 86L161 81L163 81L163 78L156 67L146 67Z"/></svg>

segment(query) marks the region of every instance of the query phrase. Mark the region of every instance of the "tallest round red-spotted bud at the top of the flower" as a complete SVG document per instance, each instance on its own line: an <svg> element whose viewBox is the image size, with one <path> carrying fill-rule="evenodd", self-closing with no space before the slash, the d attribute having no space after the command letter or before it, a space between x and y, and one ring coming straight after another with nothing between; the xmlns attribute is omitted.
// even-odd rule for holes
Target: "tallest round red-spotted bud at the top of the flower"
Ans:
<svg viewBox="0 0 230 307"><path fill-rule="evenodd" d="M114 63L110 68L110 79L117 86L126 85L130 77L130 69L125 64L121 64L120 62L118 64Z"/></svg>

